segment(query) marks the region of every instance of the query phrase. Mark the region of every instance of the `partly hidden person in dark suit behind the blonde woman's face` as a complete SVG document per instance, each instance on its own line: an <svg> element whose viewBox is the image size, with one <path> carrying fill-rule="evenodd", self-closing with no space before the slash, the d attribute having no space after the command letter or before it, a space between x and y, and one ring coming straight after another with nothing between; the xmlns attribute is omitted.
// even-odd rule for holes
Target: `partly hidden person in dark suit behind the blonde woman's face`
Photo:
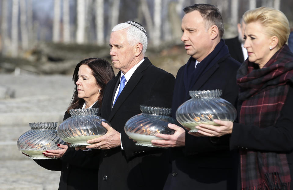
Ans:
<svg viewBox="0 0 293 190"><path fill-rule="evenodd" d="M247 59L248 55L247 50L243 47L245 23L242 19L240 19L240 22L237 24L237 29L238 36L235 38L226 39L225 43L228 46L231 57L240 63L243 63L244 60Z"/></svg>

